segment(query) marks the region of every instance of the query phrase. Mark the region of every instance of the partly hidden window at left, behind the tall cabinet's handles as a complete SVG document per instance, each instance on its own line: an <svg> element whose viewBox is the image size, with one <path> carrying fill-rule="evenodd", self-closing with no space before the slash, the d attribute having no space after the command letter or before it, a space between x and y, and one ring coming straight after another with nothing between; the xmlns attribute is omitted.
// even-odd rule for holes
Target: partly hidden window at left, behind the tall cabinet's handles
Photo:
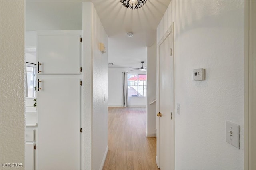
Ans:
<svg viewBox="0 0 256 170"><path fill-rule="evenodd" d="M27 63L28 97L36 97L36 64Z"/></svg>

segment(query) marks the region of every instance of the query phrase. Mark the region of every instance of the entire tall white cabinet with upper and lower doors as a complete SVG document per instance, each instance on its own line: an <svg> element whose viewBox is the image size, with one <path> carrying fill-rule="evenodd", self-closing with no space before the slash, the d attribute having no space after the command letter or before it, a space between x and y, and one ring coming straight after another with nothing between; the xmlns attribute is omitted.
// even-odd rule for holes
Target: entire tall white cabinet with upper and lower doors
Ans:
<svg viewBox="0 0 256 170"><path fill-rule="evenodd" d="M38 169L80 169L80 34L38 33Z"/></svg>

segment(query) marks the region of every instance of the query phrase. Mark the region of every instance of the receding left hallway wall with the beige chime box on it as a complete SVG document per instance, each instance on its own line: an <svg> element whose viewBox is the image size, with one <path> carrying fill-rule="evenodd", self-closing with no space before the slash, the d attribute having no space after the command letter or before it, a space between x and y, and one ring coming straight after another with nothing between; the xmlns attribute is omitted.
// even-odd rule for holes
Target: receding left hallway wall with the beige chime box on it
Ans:
<svg viewBox="0 0 256 170"><path fill-rule="evenodd" d="M108 36L98 14L93 8L93 127L92 127L92 169L103 166L108 146ZM100 52L100 42L106 53ZM106 100L104 101L104 94ZM106 155L105 155L106 156Z"/></svg>

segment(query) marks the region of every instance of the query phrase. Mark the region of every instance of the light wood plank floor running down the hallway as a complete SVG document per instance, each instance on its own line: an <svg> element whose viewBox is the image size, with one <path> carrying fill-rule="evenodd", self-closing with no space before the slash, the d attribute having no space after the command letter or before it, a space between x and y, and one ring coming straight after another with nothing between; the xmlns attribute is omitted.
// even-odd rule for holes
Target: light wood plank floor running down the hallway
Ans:
<svg viewBox="0 0 256 170"><path fill-rule="evenodd" d="M146 107L108 107L108 155L103 170L159 170L156 137L146 137Z"/></svg>

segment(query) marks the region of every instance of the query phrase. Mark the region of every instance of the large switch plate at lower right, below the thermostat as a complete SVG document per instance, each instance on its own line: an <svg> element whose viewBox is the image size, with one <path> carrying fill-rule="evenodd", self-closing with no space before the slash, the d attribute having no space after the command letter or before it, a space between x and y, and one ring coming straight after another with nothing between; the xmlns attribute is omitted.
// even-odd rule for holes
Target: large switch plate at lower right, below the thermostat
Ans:
<svg viewBox="0 0 256 170"><path fill-rule="evenodd" d="M240 126L226 121L226 142L240 149Z"/></svg>

